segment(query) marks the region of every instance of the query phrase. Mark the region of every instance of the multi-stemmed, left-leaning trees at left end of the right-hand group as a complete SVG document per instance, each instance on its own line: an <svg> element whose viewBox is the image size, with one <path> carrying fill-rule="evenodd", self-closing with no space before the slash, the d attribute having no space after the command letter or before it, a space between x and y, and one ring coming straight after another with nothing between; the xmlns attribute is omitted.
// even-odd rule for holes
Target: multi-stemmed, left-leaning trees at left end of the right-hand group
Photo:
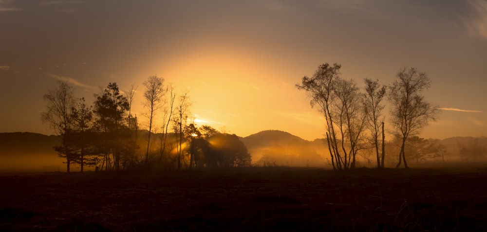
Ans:
<svg viewBox="0 0 487 232"><path fill-rule="evenodd" d="M318 106L326 121L326 136L334 169L355 168L361 149L365 114L361 94L353 80L340 78L341 66L325 63L315 74L304 76L298 89L311 97L311 107ZM340 152L341 150L341 152Z"/></svg>

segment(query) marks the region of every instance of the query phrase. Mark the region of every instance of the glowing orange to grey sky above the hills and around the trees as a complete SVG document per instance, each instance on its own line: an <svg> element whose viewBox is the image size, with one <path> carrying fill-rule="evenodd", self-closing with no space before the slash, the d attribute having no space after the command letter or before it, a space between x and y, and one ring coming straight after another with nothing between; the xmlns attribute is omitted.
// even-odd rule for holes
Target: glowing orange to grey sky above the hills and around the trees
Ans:
<svg viewBox="0 0 487 232"><path fill-rule="evenodd" d="M0 132L53 134L40 113L58 80L89 103L138 86L141 116L157 75L200 125L314 140L324 119L295 85L323 63L359 86L425 71L441 114L420 136L487 136L486 0L0 0Z"/></svg>

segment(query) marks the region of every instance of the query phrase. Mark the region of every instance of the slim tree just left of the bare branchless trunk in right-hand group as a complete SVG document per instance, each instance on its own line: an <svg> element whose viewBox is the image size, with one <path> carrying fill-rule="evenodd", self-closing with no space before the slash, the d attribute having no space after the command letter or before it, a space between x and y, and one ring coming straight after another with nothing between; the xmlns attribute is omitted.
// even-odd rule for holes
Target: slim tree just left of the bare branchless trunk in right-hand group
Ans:
<svg viewBox="0 0 487 232"><path fill-rule="evenodd" d="M363 96L363 105L367 119L367 125L372 135L372 142L375 146L375 155L377 158L377 168L384 167L384 157L379 156L379 136L381 136L381 122L384 105L381 105L382 99L386 95L386 86L379 85L378 80L364 79L365 93ZM382 120L384 122L384 120ZM384 153L383 153L384 154Z"/></svg>

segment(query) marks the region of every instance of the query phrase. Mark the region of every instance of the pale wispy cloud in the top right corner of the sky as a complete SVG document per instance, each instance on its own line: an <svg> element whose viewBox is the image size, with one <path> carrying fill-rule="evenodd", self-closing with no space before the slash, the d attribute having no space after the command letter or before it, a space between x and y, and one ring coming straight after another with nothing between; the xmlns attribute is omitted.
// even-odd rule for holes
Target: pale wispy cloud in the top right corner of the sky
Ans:
<svg viewBox="0 0 487 232"><path fill-rule="evenodd" d="M463 18L463 23L471 36L487 39L487 1L470 0L472 14Z"/></svg>

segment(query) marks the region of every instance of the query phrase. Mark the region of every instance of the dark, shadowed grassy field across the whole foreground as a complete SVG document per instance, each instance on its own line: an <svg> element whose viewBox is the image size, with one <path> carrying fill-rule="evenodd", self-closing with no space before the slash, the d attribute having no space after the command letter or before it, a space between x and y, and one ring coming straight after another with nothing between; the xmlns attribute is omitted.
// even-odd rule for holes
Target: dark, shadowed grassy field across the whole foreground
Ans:
<svg viewBox="0 0 487 232"><path fill-rule="evenodd" d="M0 231L487 231L487 168L0 175Z"/></svg>

